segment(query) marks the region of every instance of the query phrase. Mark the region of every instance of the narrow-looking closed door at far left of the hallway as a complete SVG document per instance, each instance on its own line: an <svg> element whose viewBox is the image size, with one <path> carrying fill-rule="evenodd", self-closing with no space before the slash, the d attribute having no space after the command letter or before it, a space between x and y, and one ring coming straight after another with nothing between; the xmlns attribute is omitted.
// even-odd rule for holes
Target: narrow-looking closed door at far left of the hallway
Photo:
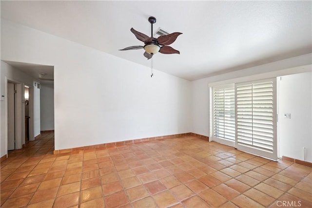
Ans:
<svg viewBox="0 0 312 208"><path fill-rule="evenodd" d="M8 151L15 150L15 90L8 82Z"/></svg>

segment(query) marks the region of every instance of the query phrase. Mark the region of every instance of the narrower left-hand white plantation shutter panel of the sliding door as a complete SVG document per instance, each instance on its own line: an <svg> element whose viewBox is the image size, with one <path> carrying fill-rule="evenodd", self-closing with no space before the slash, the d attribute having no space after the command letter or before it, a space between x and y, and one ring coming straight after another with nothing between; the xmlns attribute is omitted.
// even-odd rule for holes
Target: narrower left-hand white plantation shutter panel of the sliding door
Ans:
<svg viewBox="0 0 312 208"><path fill-rule="evenodd" d="M214 141L234 145L235 142L235 88L234 84L214 87Z"/></svg>

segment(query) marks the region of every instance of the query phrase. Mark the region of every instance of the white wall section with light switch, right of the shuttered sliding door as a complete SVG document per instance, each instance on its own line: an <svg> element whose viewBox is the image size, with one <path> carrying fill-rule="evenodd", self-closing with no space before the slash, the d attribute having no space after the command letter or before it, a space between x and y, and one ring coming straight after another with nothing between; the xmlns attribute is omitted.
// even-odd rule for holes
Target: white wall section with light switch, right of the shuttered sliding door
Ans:
<svg viewBox="0 0 312 208"><path fill-rule="evenodd" d="M312 73L281 76L278 88L279 156L312 162Z"/></svg>

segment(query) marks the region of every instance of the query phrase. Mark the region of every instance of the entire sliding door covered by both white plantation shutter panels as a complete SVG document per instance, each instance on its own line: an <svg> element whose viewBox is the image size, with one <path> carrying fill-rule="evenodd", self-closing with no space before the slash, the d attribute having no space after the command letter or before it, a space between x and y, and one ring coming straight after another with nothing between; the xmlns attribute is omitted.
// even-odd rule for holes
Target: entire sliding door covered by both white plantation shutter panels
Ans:
<svg viewBox="0 0 312 208"><path fill-rule="evenodd" d="M277 160L276 78L213 88L213 140Z"/></svg>

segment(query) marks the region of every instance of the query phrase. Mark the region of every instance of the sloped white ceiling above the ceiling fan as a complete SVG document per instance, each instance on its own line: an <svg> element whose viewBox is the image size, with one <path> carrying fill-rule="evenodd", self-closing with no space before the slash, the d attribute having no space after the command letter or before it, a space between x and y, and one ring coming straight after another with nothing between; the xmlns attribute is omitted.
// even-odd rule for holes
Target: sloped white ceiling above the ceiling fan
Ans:
<svg viewBox="0 0 312 208"><path fill-rule="evenodd" d="M154 68L187 80L312 53L312 1L4 1L1 18L150 67L130 32L150 36L148 17L180 55L156 54Z"/></svg>

